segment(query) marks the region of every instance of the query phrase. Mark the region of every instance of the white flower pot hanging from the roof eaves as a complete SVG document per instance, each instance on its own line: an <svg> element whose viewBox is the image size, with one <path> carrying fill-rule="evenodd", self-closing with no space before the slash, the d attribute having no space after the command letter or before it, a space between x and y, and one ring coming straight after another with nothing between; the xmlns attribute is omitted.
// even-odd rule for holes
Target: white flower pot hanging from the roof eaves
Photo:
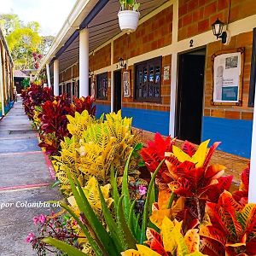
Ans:
<svg viewBox="0 0 256 256"><path fill-rule="evenodd" d="M140 13L133 10L119 11L119 26L122 31L134 32L137 29Z"/></svg>

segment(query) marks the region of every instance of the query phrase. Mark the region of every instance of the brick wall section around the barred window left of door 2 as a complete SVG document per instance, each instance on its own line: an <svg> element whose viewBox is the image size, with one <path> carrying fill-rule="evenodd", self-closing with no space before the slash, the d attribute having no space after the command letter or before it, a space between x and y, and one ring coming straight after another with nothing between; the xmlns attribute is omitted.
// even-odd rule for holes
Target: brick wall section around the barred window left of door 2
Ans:
<svg viewBox="0 0 256 256"><path fill-rule="evenodd" d="M123 97L122 106L124 108L141 108L148 110L170 111L171 63L172 55L166 55L162 57L160 104L154 102L134 102L134 66L130 66L128 69L131 72L131 97ZM164 67L170 67L168 80L164 80Z"/></svg>

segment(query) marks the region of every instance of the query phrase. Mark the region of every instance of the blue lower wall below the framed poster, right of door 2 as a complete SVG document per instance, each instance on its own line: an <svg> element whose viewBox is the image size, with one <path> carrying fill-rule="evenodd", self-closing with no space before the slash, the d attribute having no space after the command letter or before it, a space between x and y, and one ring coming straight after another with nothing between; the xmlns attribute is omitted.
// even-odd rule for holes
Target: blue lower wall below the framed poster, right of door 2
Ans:
<svg viewBox="0 0 256 256"><path fill-rule="evenodd" d="M250 158L253 121L203 117L202 140L222 142L218 149Z"/></svg>

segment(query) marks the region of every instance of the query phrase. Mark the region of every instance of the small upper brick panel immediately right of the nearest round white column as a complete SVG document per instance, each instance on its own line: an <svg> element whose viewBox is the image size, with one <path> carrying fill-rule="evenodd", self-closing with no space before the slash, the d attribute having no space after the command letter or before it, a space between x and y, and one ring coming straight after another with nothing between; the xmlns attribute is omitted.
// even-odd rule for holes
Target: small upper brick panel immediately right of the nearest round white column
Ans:
<svg viewBox="0 0 256 256"><path fill-rule="evenodd" d="M102 49L90 55L89 66L91 71L108 67L111 64L111 44L106 45Z"/></svg>

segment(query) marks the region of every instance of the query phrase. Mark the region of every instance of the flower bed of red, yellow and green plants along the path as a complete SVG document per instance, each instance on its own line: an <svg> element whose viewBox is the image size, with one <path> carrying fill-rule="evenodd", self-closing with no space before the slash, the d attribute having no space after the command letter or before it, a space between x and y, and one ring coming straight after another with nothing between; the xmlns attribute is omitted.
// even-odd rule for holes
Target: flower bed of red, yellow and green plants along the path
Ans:
<svg viewBox="0 0 256 256"><path fill-rule="evenodd" d="M54 145L40 143L65 196L63 212L34 219L39 233L27 241L38 255L255 255L248 167L231 194L233 177L211 162L219 143L177 146L156 134L143 147L131 119L95 119L86 99L84 108L85 99L72 105L60 96L32 112L40 137Z"/></svg>

